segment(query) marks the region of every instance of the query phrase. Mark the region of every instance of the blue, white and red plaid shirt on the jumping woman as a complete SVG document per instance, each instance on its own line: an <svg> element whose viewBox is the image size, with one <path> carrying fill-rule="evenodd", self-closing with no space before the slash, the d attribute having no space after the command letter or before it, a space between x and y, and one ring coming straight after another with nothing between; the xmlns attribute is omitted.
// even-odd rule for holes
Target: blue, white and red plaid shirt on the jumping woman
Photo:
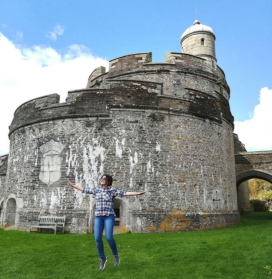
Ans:
<svg viewBox="0 0 272 279"><path fill-rule="evenodd" d="M124 197L126 191L119 191L113 187L104 189L102 186L97 188L83 188L82 193L95 195L95 216L112 214L116 217L113 210L113 201L116 196Z"/></svg>

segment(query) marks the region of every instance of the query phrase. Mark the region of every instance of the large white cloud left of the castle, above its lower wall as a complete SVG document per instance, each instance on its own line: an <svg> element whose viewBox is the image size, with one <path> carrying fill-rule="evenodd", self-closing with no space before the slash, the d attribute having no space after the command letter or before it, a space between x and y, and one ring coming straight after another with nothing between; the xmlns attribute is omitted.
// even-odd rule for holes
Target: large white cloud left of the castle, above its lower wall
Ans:
<svg viewBox="0 0 272 279"><path fill-rule="evenodd" d="M15 109L24 102L48 94L60 95L85 88L89 75L109 62L94 57L89 49L72 45L64 54L48 46L20 48L0 32L0 155L9 148L8 126Z"/></svg>

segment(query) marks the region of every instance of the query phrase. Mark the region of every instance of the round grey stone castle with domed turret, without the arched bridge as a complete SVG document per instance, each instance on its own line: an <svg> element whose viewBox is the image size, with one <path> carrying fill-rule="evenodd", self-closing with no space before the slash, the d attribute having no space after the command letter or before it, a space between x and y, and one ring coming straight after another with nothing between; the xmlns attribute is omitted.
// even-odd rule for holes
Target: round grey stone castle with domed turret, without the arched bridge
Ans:
<svg viewBox="0 0 272 279"><path fill-rule="evenodd" d="M148 191L117 197L123 232L223 228L240 223L230 89L213 30L198 20L182 53L125 55L99 67L86 89L50 94L16 109L0 164L0 223L28 227L39 214L66 215L66 230L92 232L95 199L67 184Z"/></svg>

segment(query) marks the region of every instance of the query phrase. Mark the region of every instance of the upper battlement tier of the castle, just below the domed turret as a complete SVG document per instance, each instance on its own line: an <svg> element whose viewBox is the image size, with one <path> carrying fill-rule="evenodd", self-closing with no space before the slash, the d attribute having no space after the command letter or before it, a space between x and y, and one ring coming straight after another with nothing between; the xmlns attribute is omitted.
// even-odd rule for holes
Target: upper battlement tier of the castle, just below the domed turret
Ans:
<svg viewBox="0 0 272 279"><path fill-rule="evenodd" d="M124 55L109 62L109 71L99 67L90 75L86 88L99 87L107 78L162 82L165 95L175 95L174 84L193 90L219 92L229 100L230 89L220 67L213 68L204 58L180 52L166 52L165 62L152 62L152 53Z"/></svg>

